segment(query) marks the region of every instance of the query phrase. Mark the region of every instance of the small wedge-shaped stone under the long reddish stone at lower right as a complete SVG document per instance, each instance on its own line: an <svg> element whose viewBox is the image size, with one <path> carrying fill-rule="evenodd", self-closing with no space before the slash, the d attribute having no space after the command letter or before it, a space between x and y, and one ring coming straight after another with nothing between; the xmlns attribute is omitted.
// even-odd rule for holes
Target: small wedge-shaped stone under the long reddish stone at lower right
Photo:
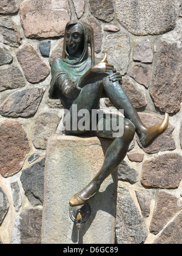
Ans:
<svg viewBox="0 0 182 256"><path fill-rule="evenodd" d="M150 215L150 200L151 196L148 191L135 191L136 197L138 199L138 202L140 204L141 213L144 216L144 218L149 217Z"/></svg>

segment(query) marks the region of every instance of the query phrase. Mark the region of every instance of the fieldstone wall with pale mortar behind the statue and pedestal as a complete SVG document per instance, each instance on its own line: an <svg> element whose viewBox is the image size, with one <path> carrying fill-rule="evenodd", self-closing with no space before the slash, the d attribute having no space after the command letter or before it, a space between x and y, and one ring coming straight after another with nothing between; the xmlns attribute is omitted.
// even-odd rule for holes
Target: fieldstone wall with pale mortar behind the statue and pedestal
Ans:
<svg viewBox="0 0 182 256"><path fill-rule="evenodd" d="M116 243L182 243L181 0L1 0L0 243L41 243L47 138L62 105L48 98L64 26L86 20L95 52L123 74L147 125L170 114L147 149L138 138L118 168ZM109 99L101 107L110 107Z"/></svg>

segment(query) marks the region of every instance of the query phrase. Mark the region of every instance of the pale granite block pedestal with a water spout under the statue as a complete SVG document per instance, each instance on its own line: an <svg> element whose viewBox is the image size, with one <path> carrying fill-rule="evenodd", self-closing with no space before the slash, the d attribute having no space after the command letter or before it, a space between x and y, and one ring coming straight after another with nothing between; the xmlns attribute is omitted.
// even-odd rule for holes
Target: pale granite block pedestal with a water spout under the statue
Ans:
<svg viewBox="0 0 182 256"><path fill-rule="evenodd" d="M111 141L53 135L45 161L42 244L78 243L77 228L69 217L69 201L101 169ZM117 172L113 172L89 201L91 215L80 231L79 243L115 243Z"/></svg>

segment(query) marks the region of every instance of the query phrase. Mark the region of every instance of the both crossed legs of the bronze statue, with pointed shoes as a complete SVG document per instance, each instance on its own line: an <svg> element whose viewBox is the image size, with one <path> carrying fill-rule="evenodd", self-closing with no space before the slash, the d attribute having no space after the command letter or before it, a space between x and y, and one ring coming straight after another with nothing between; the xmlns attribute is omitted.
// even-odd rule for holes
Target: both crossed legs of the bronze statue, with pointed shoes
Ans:
<svg viewBox="0 0 182 256"><path fill-rule="evenodd" d="M111 138L113 140L109 149L106 152L106 157L104 160L103 167L94 177L92 182L87 185L86 188L81 190L79 193L75 194L71 201L71 206L82 205L87 202L94 194L99 190L101 183L106 179L109 174L111 174L120 163L123 161L127 154L129 144L133 140L135 131L138 133L141 143L143 146L149 146L152 142L161 135L169 124L169 115L166 114L163 123L157 126L146 127L141 122L138 113L124 92L123 88L118 82L110 81L109 77L105 77L103 80L95 80L92 83L85 85L78 97L75 99L73 104L77 105L77 111L86 108L89 113L92 109L96 109L99 104L99 99L101 98L101 93L103 89L106 91L107 96L115 105L116 108L124 109L124 115L128 119L124 119L124 134L120 138L115 138L108 135L108 133L103 130L96 130L95 135L98 137ZM72 108L70 108L71 117L73 115ZM92 116L92 115L91 115ZM79 118L78 118L79 121ZM90 119L90 123L91 123ZM104 121L104 120L103 120ZM73 130L66 132L67 135L84 135L86 130ZM114 131L116 132L116 131ZM112 135L112 132L110 133ZM93 135L93 133L92 133Z"/></svg>

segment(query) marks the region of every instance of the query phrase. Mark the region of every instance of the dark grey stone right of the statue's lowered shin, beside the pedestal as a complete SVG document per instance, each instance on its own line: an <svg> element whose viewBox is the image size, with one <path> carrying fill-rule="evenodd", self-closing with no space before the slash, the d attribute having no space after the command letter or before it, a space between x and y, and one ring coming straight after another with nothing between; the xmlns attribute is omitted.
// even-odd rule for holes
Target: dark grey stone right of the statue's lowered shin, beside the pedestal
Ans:
<svg viewBox="0 0 182 256"><path fill-rule="evenodd" d="M137 176L136 170L131 168L126 161L123 161L118 166L118 180L124 180L134 184L137 182Z"/></svg>

